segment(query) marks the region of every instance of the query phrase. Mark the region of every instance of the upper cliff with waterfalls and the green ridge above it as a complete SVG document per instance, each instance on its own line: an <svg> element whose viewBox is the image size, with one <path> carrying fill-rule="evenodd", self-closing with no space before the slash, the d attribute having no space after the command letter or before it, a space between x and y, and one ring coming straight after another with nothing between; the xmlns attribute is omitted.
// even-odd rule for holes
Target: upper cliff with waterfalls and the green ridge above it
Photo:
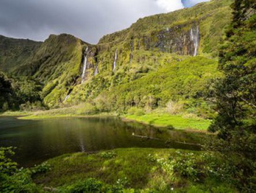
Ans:
<svg viewBox="0 0 256 193"><path fill-rule="evenodd" d="M189 9L145 17L130 28L102 37L97 44L101 71L112 69L116 49L117 67L135 62L135 51L216 55L217 44L231 22L231 3L232 0L213 0Z"/></svg>

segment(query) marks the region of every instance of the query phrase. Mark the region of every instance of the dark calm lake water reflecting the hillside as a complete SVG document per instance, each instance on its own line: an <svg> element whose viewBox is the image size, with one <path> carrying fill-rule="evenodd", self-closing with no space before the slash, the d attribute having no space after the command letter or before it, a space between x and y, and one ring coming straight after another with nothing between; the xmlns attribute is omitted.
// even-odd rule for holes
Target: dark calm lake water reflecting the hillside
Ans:
<svg viewBox="0 0 256 193"><path fill-rule="evenodd" d="M134 137L144 135L155 139ZM165 143L167 140L175 141ZM14 160L33 166L48 158L73 152L95 152L122 147L152 147L199 150L194 135L179 131L123 122L119 118L61 118L18 120L0 118L0 146L14 146Z"/></svg>

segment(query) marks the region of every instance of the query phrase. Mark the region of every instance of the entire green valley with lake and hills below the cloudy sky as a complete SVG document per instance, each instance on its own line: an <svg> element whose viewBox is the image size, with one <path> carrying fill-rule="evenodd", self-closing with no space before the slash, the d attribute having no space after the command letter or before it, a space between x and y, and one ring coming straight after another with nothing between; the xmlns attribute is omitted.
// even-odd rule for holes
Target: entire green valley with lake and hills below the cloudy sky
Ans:
<svg viewBox="0 0 256 193"><path fill-rule="evenodd" d="M255 18L212 0L97 44L0 35L0 192L255 192Z"/></svg>

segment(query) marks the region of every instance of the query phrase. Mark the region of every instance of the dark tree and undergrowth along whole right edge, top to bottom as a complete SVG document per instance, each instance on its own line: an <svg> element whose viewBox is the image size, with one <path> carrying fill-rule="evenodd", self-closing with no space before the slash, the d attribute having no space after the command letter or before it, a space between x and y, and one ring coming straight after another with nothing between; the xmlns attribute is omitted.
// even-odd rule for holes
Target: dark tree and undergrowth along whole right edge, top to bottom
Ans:
<svg viewBox="0 0 256 193"><path fill-rule="evenodd" d="M210 149L239 154L241 191L256 190L256 3L236 0L227 39L220 48L219 68L224 77L215 82L217 118L210 127L219 140ZM232 165L232 160L229 160Z"/></svg>

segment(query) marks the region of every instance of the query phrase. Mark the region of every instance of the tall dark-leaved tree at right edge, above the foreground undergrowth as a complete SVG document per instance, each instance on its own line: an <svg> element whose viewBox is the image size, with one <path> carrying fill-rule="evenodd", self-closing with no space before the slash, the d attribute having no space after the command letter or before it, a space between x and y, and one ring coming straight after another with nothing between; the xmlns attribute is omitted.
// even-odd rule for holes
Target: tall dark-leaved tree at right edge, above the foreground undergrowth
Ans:
<svg viewBox="0 0 256 193"><path fill-rule="evenodd" d="M219 53L224 78L214 91L219 115L210 127L223 139L234 133L256 134L256 29L251 24L256 6L254 1L236 0L232 7L233 22Z"/></svg>

